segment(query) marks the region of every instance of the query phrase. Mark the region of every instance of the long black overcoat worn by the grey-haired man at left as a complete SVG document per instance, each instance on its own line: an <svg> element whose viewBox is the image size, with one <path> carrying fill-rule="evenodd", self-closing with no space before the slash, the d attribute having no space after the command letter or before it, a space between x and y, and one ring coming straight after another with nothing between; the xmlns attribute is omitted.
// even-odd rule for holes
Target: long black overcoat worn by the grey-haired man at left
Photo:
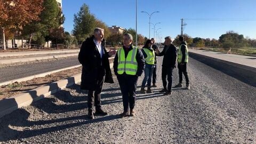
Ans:
<svg viewBox="0 0 256 144"><path fill-rule="evenodd" d="M102 58L94 43L94 36L87 38L81 46L78 60L82 64L81 89L95 90L97 79L105 76L105 83L114 83L109 66L109 55L105 49L105 39L101 42L103 49Z"/></svg>

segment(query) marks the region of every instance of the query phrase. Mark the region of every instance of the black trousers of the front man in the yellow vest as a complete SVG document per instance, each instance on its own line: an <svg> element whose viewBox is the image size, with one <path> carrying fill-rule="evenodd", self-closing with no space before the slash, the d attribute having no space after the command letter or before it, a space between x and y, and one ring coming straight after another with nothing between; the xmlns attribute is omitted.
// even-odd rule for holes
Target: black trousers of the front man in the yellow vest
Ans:
<svg viewBox="0 0 256 144"><path fill-rule="evenodd" d="M131 110L135 106L138 76L123 74L118 75L117 79L122 92L124 111L127 112L129 107Z"/></svg>

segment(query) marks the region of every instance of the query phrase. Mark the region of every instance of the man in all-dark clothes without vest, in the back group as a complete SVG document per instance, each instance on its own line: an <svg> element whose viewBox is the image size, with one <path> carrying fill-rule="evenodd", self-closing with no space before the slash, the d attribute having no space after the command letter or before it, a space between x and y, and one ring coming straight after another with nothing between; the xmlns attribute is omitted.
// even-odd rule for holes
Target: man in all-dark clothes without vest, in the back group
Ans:
<svg viewBox="0 0 256 144"><path fill-rule="evenodd" d="M162 64L162 81L164 89L160 92L164 92L164 95L169 95L172 94L172 72L175 68L175 63L177 60L177 49L172 44L170 36L165 37L164 43L164 50L162 52L159 52L159 50L157 50L156 55L159 57L164 56ZM167 87L166 76L168 81Z"/></svg>

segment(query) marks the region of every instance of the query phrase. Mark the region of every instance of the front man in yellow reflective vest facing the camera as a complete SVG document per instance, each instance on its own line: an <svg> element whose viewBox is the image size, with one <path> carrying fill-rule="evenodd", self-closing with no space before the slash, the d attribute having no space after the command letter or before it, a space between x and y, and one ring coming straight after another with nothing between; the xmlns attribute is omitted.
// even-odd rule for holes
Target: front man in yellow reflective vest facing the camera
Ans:
<svg viewBox="0 0 256 144"><path fill-rule="evenodd" d="M143 54L141 50L132 45L132 39L131 34L124 34L124 45L118 49L113 66L123 95L124 111L121 117L134 116L135 114L137 81L145 68Z"/></svg>

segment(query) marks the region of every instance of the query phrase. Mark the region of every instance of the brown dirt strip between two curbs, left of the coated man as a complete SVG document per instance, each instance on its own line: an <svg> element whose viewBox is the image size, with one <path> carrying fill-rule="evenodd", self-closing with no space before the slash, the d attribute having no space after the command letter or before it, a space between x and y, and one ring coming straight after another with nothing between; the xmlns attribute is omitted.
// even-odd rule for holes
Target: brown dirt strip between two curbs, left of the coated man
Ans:
<svg viewBox="0 0 256 144"><path fill-rule="evenodd" d="M12 97L14 95L36 89L39 86L43 86L49 83L59 81L61 79L74 76L82 72L82 67L68 69L53 73L51 75L46 75L45 77L37 77L29 81L13 83L8 85L3 85L0 87L0 100Z"/></svg>

